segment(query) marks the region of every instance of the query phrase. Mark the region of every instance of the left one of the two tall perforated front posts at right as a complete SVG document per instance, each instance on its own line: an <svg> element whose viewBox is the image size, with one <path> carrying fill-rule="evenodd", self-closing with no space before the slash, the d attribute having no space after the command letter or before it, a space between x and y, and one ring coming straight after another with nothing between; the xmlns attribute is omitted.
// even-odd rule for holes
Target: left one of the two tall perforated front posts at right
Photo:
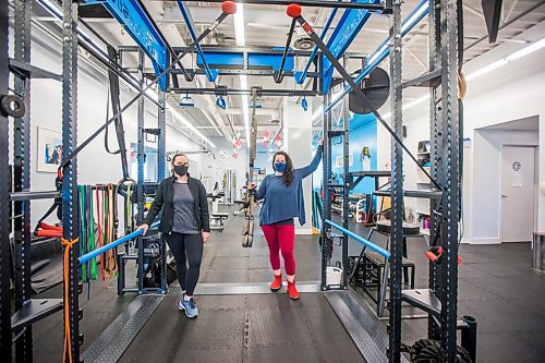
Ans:
<svg viewBox="0 0 545 363"><path fill-rule="evenodd" d="M390 74L392 129L402 137L401 77L401 1L395 0L390 23ZM389 351L391 363L401 360L401 264L403 256L403 154L400 143L391 140L391 245L390 245L390 318Z"/></svg>

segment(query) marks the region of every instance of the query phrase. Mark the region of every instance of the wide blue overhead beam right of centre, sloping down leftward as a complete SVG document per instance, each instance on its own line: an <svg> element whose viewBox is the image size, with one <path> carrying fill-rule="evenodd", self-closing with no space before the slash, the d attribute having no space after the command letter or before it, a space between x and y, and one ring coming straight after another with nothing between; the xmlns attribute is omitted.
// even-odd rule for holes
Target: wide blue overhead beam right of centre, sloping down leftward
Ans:
<svg viewBox="0 0 545 363"><path fill-rule="evenodd" d="M352 0L351 2L380 3L380 0ZM339 59L340 57L342 57L342 55L344 55L348 47L350 47L362 27L371 17L371 14L372 13L367 10L348 9L344 11L342 17L335 28L334 34L327 43L327 47L335 56L335 58ZM331 64L331 62L326 57L323 57L322 90L324 92L324 94L327 94L329 92L334 71L335 66Z"/></svg>

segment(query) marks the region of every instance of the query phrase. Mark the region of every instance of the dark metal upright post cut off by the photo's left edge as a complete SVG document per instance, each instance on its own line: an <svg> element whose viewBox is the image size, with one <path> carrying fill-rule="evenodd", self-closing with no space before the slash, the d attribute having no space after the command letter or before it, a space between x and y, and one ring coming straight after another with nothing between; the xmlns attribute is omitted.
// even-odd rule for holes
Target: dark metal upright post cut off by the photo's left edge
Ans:
<svg viewBox="0 0 545 363"><path fill-rule="evenodd" d="M0 97L9 88L9 3L0 1ZM0 165L10 162L8 117L0 112ZM11 362L10 173L0 173L0 358Z"/></svg>

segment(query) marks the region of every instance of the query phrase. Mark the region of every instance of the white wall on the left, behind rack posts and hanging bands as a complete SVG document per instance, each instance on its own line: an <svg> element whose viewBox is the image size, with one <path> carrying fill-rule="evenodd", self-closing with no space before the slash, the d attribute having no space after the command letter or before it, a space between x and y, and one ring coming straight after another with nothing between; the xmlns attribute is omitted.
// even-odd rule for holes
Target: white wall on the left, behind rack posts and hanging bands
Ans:
<svg viewBox="0 0 545 363"><path fill-rule="evenodd" d="M49 70L62 73L62 60L60 56L60 44L41 33L33 26L34 41L32 46L32 63ZM121 104L124 105L134 92L125 92L122 88ZM77 77L77 142L82 143L106 122L107 105L107 77L93 69L80 57ZM55 190L56 173L38 172L37 160L37 129L47 128L62 131L62 83L52 80L33 80L31 94L31 189L33 191ZM157 106L146 100L146 111L157 114ZM111 117L110 110L110 117ZM123 112L123 124L125 130L125 143L129 148L131 142L136 141L136 104ZM157 125L156 117L145 112L145 124L148 128ZM110 146L117 149L117 138L111 125ZM12 147L12 146L10 146ZM197 148L198 145L184 135L177 132L172 126L167 128L167 149ZM130 158L130 156L128 156ZM121 161L119 155L107 154L104 147L104 133L84 148L77 158L77 176L80 184L117 183L122 178ZM137 176L132 176L136 178ZM52 201L33 201L32 223L43 216ZM49 221L56 221L55 215Z"/></svg>

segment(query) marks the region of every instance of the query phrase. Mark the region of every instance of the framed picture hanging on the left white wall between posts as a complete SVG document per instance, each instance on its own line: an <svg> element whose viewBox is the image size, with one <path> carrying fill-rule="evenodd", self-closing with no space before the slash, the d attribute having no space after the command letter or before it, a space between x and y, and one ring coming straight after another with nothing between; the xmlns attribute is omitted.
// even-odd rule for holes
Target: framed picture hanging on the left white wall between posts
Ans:
<svg viewBox="0 0 545 363"><path fill-rule="evenodd" d="M59 131L38 128L38 161L36 170L57 172L62 161L62 134Z"/></svg>

